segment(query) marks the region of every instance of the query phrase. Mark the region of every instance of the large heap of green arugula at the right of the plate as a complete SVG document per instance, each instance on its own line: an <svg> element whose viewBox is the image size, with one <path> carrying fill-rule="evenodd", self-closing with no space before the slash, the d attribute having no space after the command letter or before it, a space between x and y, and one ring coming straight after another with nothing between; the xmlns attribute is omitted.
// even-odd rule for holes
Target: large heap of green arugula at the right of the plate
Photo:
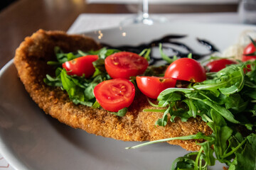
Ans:
<svg viewBox="0 0 256 170"><path fill-rule="evenodd" d="M250 72L246 72L250 64ZM170 88L159 94L159 108L145 109L163 113L156 125L166 126L168 121L200 116L213 130L209 136L199 132L196 135L171 137L146 142L131 148L171 140L198 140L201 149L184 157L178 157L171 170L208 169L216 161L227 164L230 170L256 169L256 62L233 64L209 79L190 84L187 89ZM156 106L156 104L151 103ZM168 116L171 119L168 120ZM247 136L246 136L247 135Z"/></svg>

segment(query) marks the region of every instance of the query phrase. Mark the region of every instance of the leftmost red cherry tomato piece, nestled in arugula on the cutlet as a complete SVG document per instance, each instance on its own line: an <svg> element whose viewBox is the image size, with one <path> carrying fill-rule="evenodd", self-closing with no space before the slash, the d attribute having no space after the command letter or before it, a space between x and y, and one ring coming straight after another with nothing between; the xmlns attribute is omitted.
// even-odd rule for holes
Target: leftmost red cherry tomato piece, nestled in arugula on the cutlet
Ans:
<svg viewBox="0 0 256 170"><path fill-rule="evenodd" d="M86 55L78 57L74 60L63 63L63 68L67 71L68 75L77 75L89 78L95 72L92 62L95 62L99 57L97 55Z"/></svg>

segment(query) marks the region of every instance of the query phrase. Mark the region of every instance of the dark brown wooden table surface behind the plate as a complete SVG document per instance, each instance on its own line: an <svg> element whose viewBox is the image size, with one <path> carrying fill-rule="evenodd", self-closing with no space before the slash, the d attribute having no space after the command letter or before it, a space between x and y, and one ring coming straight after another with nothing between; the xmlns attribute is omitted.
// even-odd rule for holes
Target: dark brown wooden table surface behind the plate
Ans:
<svg viewBox="0 0 256 170"><path fill-rule="evenodd" d="M17 0L0 11L0 69L36 30L68 30L80 13L134 13L136 4L87 4L86 0ZM237 4L152 4L151 13L235 12ZM136 10L135 10L136 11Z"/></svg>

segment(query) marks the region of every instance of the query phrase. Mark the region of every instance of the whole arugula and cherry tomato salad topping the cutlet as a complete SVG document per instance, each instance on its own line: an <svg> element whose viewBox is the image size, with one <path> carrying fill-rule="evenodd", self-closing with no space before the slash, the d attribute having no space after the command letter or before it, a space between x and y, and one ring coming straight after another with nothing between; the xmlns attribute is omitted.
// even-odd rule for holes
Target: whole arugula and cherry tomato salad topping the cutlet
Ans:
<svg viewBox="0 0 256 170"><path fill-rule="evenodd" d="M250 51L245 56L255 55L253 47L245 50ZM211 135L199 132L129 147L170 140L204 141L198 143L201 146L198 152L177 158L172 170L206 170L216 161L227 164L230 170L256 169L256 60L216 60L208 63L208 70L212 72L206 73L207 69L196 60L188 57L174 61L166 58L160 49L163 59L172 63L165 74L152 74L153 69L146 62L149 52L144 50L138 55L102 48L96 52L64 53L56 47L57 62L48 62L57 66L55 77L46 75L44 81L67 91L75 104L102 106L118 116L125 115L139 87L149 98L157 98L157 104L149 102L157 109L145 111L163 113L156 121L156 125L163 127L168 121L174 122L176 117L186 121L200 116L211 128ZM86 69L74 69L84 62ZM186 86L177 88L178 82ZM161 90L154 91L154 87Z"/></svg>

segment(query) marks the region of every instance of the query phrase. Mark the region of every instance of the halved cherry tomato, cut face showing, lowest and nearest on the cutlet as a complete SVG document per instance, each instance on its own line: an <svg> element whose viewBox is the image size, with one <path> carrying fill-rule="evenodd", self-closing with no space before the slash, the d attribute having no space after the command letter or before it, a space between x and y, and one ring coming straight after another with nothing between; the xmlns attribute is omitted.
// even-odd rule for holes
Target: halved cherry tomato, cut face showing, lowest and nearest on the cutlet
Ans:
<svg viewBox="0 0 256 170"><path fill-rule="evenodd" d="M112 112L130 106L135 96L134 85L127 79L102 81L93 92L100 106Z"/></svg>

